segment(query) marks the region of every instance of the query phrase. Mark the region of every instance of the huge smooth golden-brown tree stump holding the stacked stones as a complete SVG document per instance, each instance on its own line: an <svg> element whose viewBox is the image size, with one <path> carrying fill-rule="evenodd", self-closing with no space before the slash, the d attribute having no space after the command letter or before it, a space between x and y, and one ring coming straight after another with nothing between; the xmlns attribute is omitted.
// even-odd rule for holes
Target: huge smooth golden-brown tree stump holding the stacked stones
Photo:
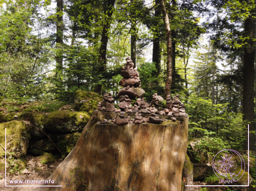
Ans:
<svg viewBox="0 0 256 191"><path fill-rule="evenodd" d="M45 184L62 187L35 190L180 191L188 118L118 126L96 123L119 113L96 115L94 120L90 118L75 148L48 178L55 183Z"/></svg>

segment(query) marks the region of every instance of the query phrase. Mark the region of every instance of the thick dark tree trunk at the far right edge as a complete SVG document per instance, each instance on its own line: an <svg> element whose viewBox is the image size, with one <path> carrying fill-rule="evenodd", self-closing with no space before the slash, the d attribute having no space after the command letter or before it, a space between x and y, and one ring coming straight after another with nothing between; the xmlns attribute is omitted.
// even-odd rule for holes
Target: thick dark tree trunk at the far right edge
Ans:
<svg viewBox="0 0 256 191"><path fill-rule="evenodd" d="M254 10L252 10L254 11ZM253 12L252 12L253 14ZM243 81L243 106L242 113L244 114L243 120L251 122L249 131L255 130L255 112L254 112L254 97L255 97L255 43L252 41L255 38L255 20L250 16L245 20L245 33L250 39L247 41L247 46L244 48L244 81ZM246 126L247 127L247 126ZM246 132L247 137L247 132ZM255 151L255 135L250 133L249 135L250 145L249 149ZM245 141L243 148L247 150L247 140Z"/></svg>

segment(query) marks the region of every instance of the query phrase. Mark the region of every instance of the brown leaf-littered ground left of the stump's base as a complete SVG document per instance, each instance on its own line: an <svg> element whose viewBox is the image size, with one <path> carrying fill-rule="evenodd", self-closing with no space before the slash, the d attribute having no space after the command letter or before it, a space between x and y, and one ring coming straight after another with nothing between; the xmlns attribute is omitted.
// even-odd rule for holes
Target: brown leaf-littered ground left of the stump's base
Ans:
<svg viewBox="0 0 256 191"><path fill-rule="evenodd" d="M40 180L43 181L43 179L48 180L48 177L53 173L53 171L57 168L57 166L63 161L62 159L57 159L55 163L51 164L41 164L41 160L39 160L39 157L33 157L31 155L28 155L27 158L27 168L23 171L21 171L21 174L19 171L14 173L7 173L6 176L6 185L12 185L12 186L36 186L40 184L10 184L11 180ZM4 162L4 159L2 160ZM2 179L0 179L0 191L11 191L11 190L20 190L20 191L32 191L35 189L35 187L5 187L5 170L0 171L0 176Z"/></svg>

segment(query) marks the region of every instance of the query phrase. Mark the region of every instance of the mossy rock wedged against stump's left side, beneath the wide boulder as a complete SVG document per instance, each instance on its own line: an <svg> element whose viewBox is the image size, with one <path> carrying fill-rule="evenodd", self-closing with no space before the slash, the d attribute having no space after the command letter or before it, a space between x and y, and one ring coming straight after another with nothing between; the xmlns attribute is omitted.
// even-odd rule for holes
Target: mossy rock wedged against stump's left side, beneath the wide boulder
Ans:
<svg viewBox="0 0 256 191"><path fill-rule="evenodd" d="M76 132L72 134L63 134L57 136L57 147L61 150L62 154L65 156L71 152L75 147L78 138L81 136L81 133Z"/></svg>

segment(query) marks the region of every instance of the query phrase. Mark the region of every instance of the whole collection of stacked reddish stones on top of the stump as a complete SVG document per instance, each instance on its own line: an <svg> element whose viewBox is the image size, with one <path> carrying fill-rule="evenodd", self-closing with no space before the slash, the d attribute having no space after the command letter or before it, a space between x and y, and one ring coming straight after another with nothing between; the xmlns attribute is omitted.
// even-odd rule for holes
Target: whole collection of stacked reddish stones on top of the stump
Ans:
<svg viewBox="0 0 256 191"><path fill-rule="evenodd" d="M167 121L167 119L163 120L156 115L170 116L172 121L176 121L176 117L188 117L188 114L185 113L185 105L179 100L179 95L174 96L173 99L169 95L164 109L161 107L163 106L164 99L157 95L157 93L152 96L152 101L148 104L143 98L145 91L140 88L139 72L137 68L133 67L134 63L127 57L125 66L121 68L123 79L120 80L119 85L123 86L123 88L117 94L120 101L118 104L119 109L114 107L114 99L111 93L104 94L103 101L99 102L96 111L120 112L118 117L112 118L112 120L105 119L103 122L100 122L101 124L123 125L145 122L162 123ZM132 103L134 104L133 106ZM135 117L126 117L126 112L135 113ZM142 116L142 113L150 114L150 117L145 118ZM93 117L95 118L96 116Z"/></svg>

